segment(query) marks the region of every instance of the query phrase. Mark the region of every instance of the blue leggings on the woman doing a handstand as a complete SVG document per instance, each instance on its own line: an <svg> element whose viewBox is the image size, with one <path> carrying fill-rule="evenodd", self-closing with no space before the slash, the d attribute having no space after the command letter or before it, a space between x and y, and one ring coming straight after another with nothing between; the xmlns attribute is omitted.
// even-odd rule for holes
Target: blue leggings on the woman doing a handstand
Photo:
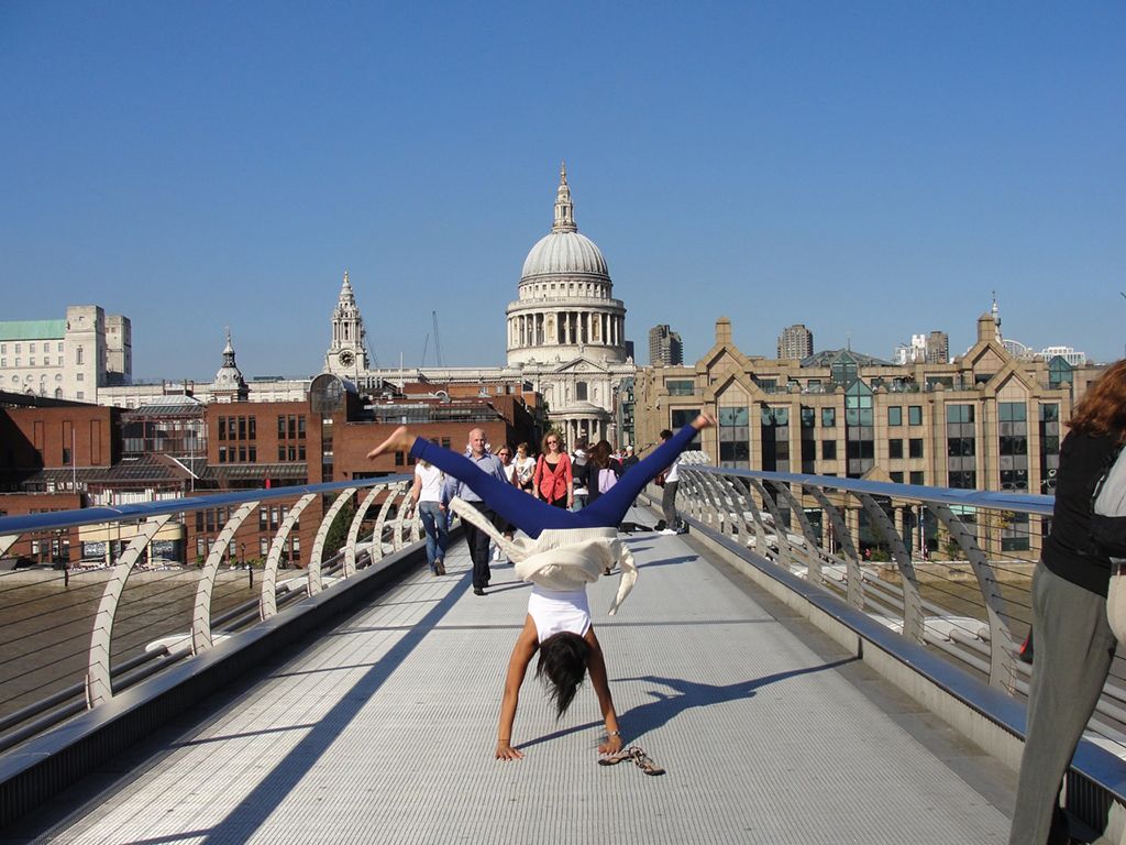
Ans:
<svg viewBox="0 0 1126 845"><path fill-rule="evenodd" d="M677 455L696 437L694 426L685 426L672 439L658 446L644 460L629 469L618 482L582 510L563 510L529 496L477 469L467 457L443 448L436 443L414 438L411 454L429 461L447 475L453 475L484 499L485 504L529 537L538 537L545 528L609 528L622 522L637 493L668 469Z"/></svg>

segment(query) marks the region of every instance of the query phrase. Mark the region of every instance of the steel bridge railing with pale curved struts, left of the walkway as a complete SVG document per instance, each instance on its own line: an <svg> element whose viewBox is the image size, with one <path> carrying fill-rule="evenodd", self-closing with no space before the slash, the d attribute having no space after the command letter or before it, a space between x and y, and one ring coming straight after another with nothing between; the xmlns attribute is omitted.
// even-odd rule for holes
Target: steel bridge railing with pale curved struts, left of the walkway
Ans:
<svg viewBox="0 0 1126 845"><path fill-rule="evenodd" d="M120 549L110 566L0 571L0 751L418 542L418 521L402 518L409 481L396 475L0 518L0 559L12 562L15 551L51 548L81 526L111 532ZM318 498L320 506L310 508ZM285 516L250 566L244 553L231 553L232 542L263 508ZM153 554L162 528L187 525L200 510L223 515L206 554L195 563ZM303 514L307 521L322 510L312 544L302 549L293 540ZM333 523L340 548L329 555Z"/></svg>

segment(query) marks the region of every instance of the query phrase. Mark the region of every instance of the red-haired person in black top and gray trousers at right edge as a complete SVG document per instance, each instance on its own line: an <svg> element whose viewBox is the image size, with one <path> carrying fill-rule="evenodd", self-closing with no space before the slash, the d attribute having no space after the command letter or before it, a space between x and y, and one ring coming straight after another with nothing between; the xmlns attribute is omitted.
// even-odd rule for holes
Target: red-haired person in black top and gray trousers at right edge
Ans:
<svg viewBox="0 0 1126 845"><path fill-rule="evenodd" d="M1110 560L1091 537L1091 497L1126 438L1126 361L1075 406L1060 448L1052 533L1033 577L1036 655L1010 845L1066 845L1060 788L1102 692L1117 641Z"/></svg>

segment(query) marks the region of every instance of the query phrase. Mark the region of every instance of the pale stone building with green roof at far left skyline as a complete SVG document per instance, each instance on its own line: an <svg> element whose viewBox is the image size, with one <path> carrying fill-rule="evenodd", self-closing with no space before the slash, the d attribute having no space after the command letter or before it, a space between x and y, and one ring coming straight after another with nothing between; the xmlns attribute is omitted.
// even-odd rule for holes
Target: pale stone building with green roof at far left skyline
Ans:
<svg viewBox="0 0 1126 845"><path fill-rule="evenodd" d="M100 305L70 305L63 320L0 321L0 390L97 402L133 380L127 317Z"/></svg>

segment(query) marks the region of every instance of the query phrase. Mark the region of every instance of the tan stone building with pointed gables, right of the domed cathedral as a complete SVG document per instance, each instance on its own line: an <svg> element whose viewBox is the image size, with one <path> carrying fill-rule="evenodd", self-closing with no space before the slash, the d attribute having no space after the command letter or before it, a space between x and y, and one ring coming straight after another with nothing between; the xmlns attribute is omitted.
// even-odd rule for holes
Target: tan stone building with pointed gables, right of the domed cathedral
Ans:
<svg viewBox="0 0 1126 845"><path fill-rule="evenodd" d="M694 365L638 372L637 441L707 410L720 425L701 447L723 466L1052 493L1065 420L1099 373L1013 358L989 313L953 363L904 366L849 349L748 356L721 318Z"/></svg>

